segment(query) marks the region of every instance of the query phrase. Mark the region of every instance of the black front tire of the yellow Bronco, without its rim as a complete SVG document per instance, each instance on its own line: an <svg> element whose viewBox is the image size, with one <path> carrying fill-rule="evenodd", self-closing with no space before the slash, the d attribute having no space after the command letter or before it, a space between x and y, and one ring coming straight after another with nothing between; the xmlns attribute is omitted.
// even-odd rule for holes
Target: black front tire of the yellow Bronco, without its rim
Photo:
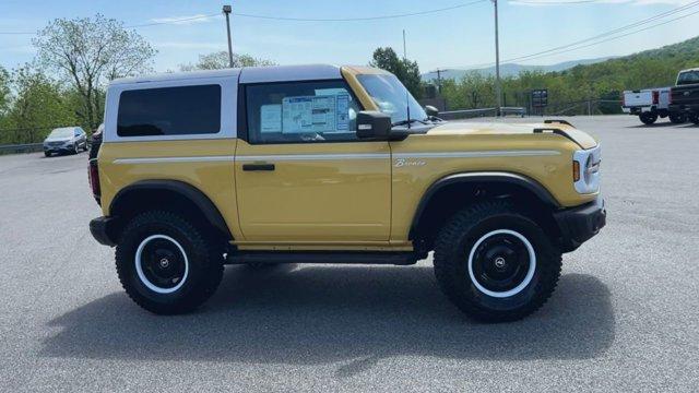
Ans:
<svg viewBox="0 0 699 393"><path fill-rule="evenodd" d="M483 293L469 273L473 246L484 235L500 229L526 238L536 261L529 284L509 297ZM434 265L442 291L464 313L484 322L506 322L531 314L548 300L560 276L561 252L540 225L511 203L486 201L460 211L448 221L437 236Z"/></svg>

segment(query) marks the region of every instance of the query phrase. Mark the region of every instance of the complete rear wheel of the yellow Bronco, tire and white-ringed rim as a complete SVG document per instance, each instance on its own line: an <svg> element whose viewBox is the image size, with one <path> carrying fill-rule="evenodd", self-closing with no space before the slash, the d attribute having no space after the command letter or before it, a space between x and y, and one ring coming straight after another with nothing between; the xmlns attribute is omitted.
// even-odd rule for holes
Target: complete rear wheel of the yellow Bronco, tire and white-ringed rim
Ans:
<svg viewBox="0 0 699 393"><path fill-rule="evenodd" d="M191 311L217 288L223 253L186 218L164 211L134 217L117 245L117 273L142 308L174 314Z"/></svg>

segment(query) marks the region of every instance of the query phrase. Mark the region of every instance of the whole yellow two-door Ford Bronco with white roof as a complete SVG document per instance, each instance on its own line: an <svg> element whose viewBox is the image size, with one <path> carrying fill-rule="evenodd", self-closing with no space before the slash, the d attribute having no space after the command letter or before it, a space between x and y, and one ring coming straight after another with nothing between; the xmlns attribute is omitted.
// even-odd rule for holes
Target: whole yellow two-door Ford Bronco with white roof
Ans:
<svg viewBox="0 0 699 393"><path fill-rule="evenodd" d="M466 314L520 319L605 225L600 145L562 120L446 122L366 67L114 81L88 170L127 294L203 303L225 264L410 265ZM322 296L322 294L318 294Z"/></svg>

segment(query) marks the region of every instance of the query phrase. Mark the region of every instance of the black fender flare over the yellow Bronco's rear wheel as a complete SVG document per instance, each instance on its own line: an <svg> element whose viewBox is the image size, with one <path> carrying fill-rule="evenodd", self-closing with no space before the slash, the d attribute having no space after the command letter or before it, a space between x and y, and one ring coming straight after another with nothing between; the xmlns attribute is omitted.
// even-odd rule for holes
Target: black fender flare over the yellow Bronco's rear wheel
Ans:
<svg viewBox="0 0 699 393"><path fill-rule="evenodd" d="M120 201L123 201L129 194L143 191L173 192L191 201L214 228L227 236L228 239L233 239L226 221L211 199L198 188L179 180L140 180L131 183L117 192L109 204L109 213L115 214L119 209Z"/></svg>

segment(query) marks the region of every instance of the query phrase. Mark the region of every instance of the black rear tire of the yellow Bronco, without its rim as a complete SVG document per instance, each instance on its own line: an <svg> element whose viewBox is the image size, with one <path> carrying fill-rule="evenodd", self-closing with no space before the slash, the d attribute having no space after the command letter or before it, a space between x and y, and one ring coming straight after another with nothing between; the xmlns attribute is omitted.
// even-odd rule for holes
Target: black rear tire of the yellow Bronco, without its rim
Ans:
<svg viewBox="0 0 699 393"><path fill-rule="evenodd" d="M206 301L221 283L224 259L221 247L205 234L183 217L166 211L145 212L131 219L121 233L116 250L117 274L129 297L157 314L186 313ZM137 271L137 250L154 235L175 239L188 262L189 271L181 287L169 294L149 288Z"/></svg>

